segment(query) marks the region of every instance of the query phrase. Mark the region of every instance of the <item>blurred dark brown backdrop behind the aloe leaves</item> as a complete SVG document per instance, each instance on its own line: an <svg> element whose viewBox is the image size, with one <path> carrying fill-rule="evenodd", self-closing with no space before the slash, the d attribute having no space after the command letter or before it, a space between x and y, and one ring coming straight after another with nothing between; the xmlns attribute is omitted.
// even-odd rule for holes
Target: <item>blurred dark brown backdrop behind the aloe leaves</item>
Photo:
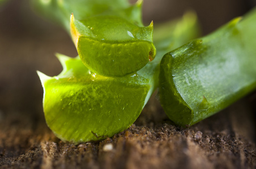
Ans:
<svg viewBox="0 0 256 169"><path fill-rule="evenodd" d="M35 14L28 0L0 4L0 122L8 115L43 119L36 70L59 74L62 68L54 54L74 57L75 46L65 30ZM205 35L255 5L253 0L144 0L143 20L145 25L163 23L194 10Z"/></svg>

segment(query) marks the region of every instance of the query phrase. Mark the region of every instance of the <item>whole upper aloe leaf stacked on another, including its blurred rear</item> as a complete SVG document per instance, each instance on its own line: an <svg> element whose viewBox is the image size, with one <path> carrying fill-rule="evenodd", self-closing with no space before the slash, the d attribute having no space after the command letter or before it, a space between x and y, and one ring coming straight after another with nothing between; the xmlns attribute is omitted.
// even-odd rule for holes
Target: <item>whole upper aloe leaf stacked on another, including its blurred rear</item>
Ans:
<svg viewBox="0 0 256 169"><path fill-rule="evenodd" d="M155 58L153 23L143 26L142 1L135 5L126 0L42 2L37 1L38 8L65 26L84 65L96 74L134 74Z"/></svg>

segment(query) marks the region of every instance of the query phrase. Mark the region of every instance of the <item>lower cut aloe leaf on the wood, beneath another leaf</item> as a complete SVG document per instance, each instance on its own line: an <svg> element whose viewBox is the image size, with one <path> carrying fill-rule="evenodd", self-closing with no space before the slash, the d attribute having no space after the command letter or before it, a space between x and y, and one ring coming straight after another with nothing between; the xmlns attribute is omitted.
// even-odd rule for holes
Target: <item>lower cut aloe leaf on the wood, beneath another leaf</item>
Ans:
<svg viewBox="0 0 256 169"><path fill-rule="evenodd" d="M173 23L186 25L187 29L180 34L184 39L191 38L194 33L190 31L197 29L196 16L191 14L189 20L188 16ZM170 26L166 33L175 32L180 26ZM163 46L182 43L174 41L172 33L168 36L169 42L159 45L156 60L125 77L93 74L79 57L58 55L63 66L61 74L48 77L38 72L44 87L43 105L49 128L59 139L78 144L111 137L131 126L158 85L161 54L166 52L161 51L166 50Z"/></svg>

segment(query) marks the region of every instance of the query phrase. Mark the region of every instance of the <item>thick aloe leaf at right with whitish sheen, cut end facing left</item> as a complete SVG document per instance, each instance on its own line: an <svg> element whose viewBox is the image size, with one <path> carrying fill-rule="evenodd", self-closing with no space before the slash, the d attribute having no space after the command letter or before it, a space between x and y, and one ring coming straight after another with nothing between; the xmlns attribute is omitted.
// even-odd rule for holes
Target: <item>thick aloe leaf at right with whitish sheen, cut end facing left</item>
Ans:
<svg viewBox="0 0 256 169"><path fill-rule="evenodd" d="M256 11L163 57L160 101L168 117L191 126L256 87Z"/></svg>

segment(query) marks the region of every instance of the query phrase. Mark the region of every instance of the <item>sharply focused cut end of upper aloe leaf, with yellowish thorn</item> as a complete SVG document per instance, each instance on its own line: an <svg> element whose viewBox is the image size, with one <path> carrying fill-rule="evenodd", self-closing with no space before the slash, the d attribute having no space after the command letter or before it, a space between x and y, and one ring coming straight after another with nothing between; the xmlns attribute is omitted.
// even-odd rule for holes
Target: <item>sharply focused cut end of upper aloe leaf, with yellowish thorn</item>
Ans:
<svg viewBox="0 0 256 169"><path fill-rule="evenodd" d="M155 58L153 23L139 27L121 17L105 15L76 21L71 15L70 24L82 62L96 74L122 77Z"/></svg>

